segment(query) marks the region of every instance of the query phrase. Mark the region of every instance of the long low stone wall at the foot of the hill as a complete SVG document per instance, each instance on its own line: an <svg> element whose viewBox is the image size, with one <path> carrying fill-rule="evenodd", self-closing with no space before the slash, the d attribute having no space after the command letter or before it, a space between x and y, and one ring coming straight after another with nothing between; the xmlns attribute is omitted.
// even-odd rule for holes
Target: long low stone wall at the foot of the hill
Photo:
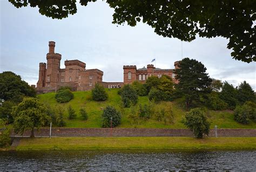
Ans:
<svg viewBox="0 0 256 172"><path fill-rule="evenodd" d="M35 130L37 137L49 137L49 128ZM30 136L26 131L23 136ZM188 129L172 128L52 128L52 137L193 137ZM20 135L11 132L11 137ZM214 129L210 137L215 137ZM256 129L218 129L218 137L256 137Z"/></svg>

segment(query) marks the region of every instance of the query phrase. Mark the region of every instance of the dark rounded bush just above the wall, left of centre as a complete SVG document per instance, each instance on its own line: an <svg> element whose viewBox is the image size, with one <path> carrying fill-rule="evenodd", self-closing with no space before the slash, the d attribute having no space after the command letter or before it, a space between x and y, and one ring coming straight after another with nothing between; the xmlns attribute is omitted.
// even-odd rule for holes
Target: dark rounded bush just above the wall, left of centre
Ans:
<svg viewBox="0 0 256 172"><path fill-rule="evenodd" d="M121 113L112 106L107 106L102 114L102 127L110 128L112 117L112 127L116 127L121 123Z"/></svg>

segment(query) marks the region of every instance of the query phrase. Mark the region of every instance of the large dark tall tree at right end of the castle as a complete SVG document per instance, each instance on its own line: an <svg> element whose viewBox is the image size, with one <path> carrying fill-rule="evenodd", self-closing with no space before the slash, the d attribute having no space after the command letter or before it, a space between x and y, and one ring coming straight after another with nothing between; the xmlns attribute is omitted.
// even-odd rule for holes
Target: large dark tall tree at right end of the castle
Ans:
<svg viewBox="0 0 256 172"><path fill-rule="evenodd" d="M178 69L175 69L174 73L179 81L176 85L177 91L185 96L187 109L193 100L198 100L200 95L210 92L212 79L201 62L185 58L179 62Z"/></svg>

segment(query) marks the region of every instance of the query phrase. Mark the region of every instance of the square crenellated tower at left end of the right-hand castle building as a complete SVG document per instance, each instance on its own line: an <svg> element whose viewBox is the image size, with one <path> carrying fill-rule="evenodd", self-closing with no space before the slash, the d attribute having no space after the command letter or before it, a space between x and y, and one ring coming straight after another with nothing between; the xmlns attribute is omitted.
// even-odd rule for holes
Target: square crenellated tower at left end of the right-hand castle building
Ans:
<svg viewBox="0 0 256 172"><path fill-rule="evenodd" d="M133 81L136 81L136 73L137 67L136 66L124 66L124 84L130 84Z"/></svg>

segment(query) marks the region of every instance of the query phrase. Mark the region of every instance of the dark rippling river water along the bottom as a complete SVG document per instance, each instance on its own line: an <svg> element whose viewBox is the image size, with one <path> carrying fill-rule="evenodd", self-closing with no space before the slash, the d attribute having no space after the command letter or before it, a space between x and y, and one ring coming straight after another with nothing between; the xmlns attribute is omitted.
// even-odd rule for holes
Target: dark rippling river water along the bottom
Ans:
<svg viewBox="0 0 256 172"><path fill-rule="evenodd" d="M38 150L0 152L0 171L256 171L255 162L256 150Z"/></svg>

